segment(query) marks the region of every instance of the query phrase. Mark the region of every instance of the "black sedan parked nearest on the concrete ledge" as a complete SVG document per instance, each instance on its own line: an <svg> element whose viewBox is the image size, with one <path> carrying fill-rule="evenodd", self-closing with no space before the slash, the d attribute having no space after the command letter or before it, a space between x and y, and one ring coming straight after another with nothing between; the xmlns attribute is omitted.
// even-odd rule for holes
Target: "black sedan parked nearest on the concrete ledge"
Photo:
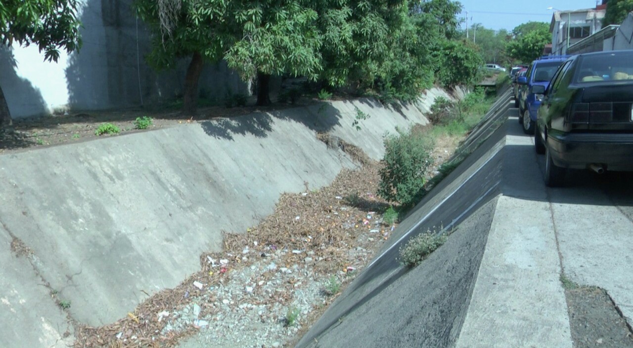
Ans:
<svg viewBox="0 0 633 348"><path fill-rule="evenodd" d="M544 91L534 146L545 153L545 183L567 169L633 171L633 51L570 57Z"/></svg>

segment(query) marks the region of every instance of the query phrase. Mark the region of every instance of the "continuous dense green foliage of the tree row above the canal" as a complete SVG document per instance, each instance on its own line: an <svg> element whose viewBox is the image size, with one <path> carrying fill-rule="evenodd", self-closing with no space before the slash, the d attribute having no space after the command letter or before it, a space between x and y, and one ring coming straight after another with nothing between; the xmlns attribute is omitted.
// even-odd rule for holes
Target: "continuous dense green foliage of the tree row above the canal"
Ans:
<svg viewBox="0 0 633 348"><path fill-rule="evenodd" d="M290 75L405 100L436 80L439 62L434 52L456 37L461 11L461 4L451 0L136 4L153 32L148 59L156 68L171 68L179 59L199 54L206 62L225 59L244 80L257 77L260 93L268 93L261 88L267 76ZM451 83L457 83L455 79ZM266 102L258 95L260 101Z"/></svg>

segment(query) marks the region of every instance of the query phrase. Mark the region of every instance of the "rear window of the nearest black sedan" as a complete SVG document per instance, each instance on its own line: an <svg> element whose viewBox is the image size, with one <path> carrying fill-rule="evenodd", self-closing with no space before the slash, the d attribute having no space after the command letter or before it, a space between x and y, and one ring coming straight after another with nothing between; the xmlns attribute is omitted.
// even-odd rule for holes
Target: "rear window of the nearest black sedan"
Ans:
<svg viewBox="0 0 633 348"><path fill-rule="evenodd" d="M633 80L633 52L611 52L580 57L577 71L577 83Z"/></svg>

